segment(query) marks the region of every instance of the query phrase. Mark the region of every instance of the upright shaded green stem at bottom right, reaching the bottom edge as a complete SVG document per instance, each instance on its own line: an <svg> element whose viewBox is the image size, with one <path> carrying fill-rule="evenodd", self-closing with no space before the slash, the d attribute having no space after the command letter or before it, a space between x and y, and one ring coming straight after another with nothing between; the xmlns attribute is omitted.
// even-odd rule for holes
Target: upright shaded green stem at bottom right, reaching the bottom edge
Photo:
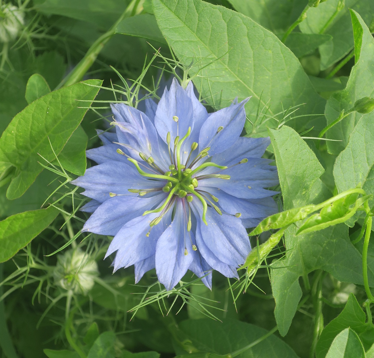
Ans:
<svg viewBox="0 0 374 358"><path fill-rule="evenodd" d="M316 272L316 280L313 284L313 305L315 310L315 321L313 330L312 347L310 348L310 358L314 358L318 338L324 328L324 316L322 314L322 283L324 278L324 272L318 270Z"/></svg>

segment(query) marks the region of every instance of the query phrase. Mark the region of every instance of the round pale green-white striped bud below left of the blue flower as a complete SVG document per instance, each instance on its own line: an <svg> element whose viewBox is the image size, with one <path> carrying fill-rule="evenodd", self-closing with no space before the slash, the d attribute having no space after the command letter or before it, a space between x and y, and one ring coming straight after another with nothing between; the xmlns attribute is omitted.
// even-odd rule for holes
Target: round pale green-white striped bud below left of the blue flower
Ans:
<svg viewBox="0 0 374 358"><path fill-rule="evenodd" d="M98 276L96 261L85 258L85 253L76 248L58 255L53 279L56 286L72 290L76 294L86 295L95 284Z"/></svg>

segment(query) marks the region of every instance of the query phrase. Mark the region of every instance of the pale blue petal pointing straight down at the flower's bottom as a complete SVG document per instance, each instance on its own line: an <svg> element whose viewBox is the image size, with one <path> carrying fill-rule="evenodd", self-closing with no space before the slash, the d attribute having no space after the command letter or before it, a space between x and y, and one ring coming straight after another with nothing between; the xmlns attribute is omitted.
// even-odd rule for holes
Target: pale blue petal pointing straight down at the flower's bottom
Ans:
<svg viewBox="0 0 374 358"><path fill-rule="evenodd" d="M192 248L187 255L184 254L185 247L189 243L183 204L178 200L174 220L160 236L156 247L157 278L168 291L178 284L192 263L194 257Z"/></svg>

